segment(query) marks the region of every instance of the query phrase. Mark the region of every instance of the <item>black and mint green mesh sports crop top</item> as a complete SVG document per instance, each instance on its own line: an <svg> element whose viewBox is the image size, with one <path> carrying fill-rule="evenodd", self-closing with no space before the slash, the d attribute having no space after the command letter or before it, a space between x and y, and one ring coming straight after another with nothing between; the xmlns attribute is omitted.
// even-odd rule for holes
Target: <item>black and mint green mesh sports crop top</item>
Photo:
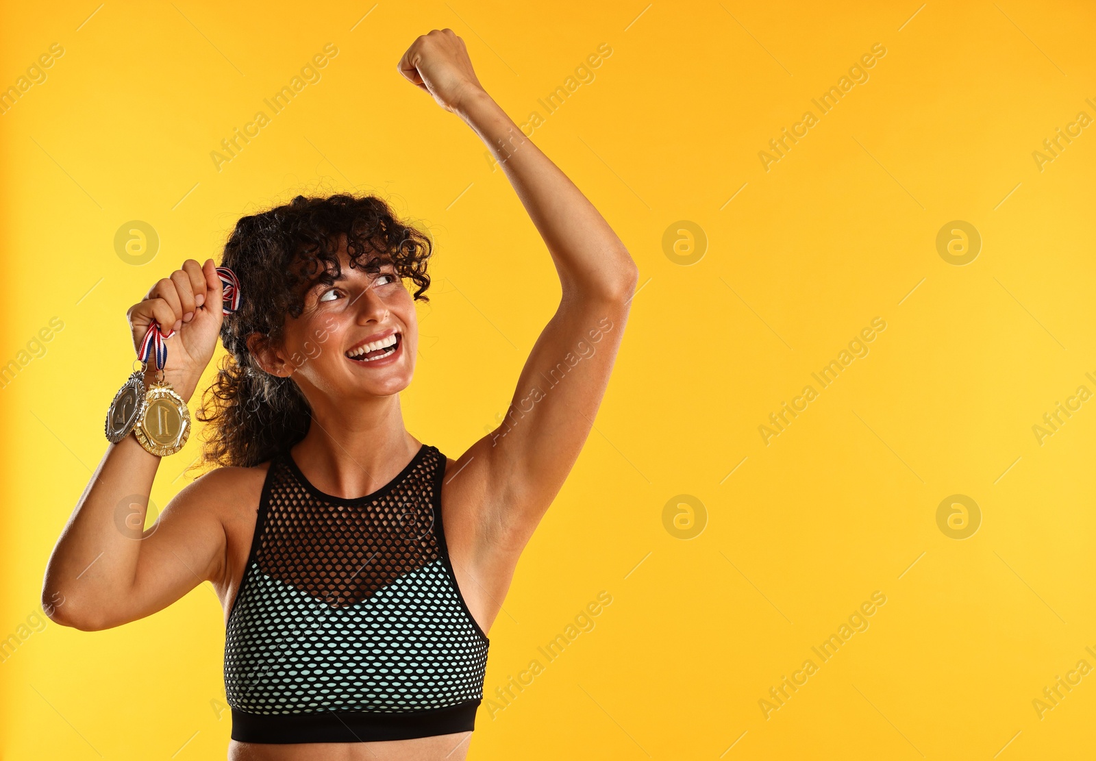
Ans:
<svg viewBox="0 0 1096 761"><path fill-rule="evenodd" d="M446 458L423 445L365 497L273 458L225 634L232 739L399 740L475 727L488 637L442 523Z"/></svg>

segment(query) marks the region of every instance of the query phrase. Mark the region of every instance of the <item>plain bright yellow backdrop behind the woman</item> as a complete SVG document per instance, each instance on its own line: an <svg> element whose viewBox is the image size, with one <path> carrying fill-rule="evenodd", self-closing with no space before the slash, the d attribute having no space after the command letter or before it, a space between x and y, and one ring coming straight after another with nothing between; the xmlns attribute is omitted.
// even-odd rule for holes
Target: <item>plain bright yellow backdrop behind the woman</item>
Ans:
<svg viewBox="0 0 1096 761"><path fill-rule="evenodd" d="M509 707L484 703L470 758L1091 756L1096 674L1041 719L1032 701L1096 667L1096 402L1041 445L1032 425L1096 390L1096 127L1042 171L1031 154L1096 117L1096 11L644 4L9 4L0 86L52 43L66 53L0 116L0 362L52 317L65 328L0 391L0 636L41 614L48 554L103 454L126 308L183 259L217 258L246 213L353 189L429 227L407 424L450 456L482 435L558 285L479 139L396 63L452 27L523 122L607 43L533 139L642 288L596 430L490 633L486 697L600 591L613 603ZM322 80L218 172L209 152L327 43ZM870 80L765 171L758 151L877 43ZM141 266L114 250L134 219L161 239ZM693 265L663 251L678 220L707 237ZM936 250L951 220L982 236L967 265ZM876 317L870 353L766 445L757 427ZM195 439L164 461L156 504L186 482ZM936 521L956 493L982 511L962 541ZM706 508L695 538L663 523L677 495ZM876 590L870 628L766 719L758 701ZM112 631L50 623L0 665L0 753L222 758L222 635L208 584Z"/></svg>

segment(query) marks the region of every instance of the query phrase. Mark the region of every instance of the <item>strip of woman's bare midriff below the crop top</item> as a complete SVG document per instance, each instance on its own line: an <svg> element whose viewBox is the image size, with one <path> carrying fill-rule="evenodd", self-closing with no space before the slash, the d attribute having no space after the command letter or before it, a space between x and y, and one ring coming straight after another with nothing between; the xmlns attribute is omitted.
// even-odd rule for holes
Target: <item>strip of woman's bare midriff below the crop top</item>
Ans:
<svg viewBox="0 0 1096 761"><path fill-rule="evenodd" d="M381 742L295 742L228 746L228 761L464 761L471 732Z"/></svg>

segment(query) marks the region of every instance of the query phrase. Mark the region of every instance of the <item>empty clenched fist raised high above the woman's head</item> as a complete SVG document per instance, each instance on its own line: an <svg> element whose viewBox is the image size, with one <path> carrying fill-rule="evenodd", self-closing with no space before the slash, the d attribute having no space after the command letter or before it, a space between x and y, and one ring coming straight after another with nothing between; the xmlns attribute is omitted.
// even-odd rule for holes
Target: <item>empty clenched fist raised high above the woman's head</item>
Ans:
<svg viewBox="0 0 1096 761"><path fill-rule="evenodd" d="M465 41L450 29L434 30L415 39L397 68L433 95L439 106L458 115L469 98L483 91Z"/></svg>

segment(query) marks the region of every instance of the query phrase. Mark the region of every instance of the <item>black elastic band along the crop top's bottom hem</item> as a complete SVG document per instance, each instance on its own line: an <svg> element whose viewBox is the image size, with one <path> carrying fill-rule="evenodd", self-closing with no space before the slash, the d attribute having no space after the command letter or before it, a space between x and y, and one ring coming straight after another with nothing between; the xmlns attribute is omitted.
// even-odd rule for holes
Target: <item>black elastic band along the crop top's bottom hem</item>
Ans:
<svg viewBox="0 0 1096 761"><path fill-rule="evenodd" d="M408 713L317 711L249 714L232 708L232 739L239 742L370 742L471 731L479 700Z"/></svg>

